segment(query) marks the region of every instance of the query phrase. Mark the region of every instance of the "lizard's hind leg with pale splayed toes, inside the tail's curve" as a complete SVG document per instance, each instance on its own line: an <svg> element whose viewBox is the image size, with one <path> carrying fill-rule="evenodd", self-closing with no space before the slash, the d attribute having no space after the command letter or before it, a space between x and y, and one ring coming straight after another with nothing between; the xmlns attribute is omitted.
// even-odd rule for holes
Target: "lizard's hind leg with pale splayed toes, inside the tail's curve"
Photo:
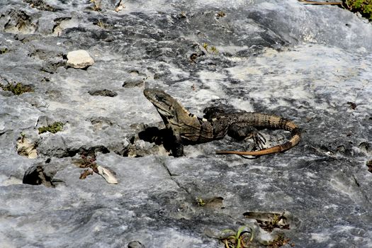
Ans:
<svg viewBox="0 0 372 248"><path fill-rule="evenodd" d="M254 149L261 150L264 148L266 139L257 128L245 123L232 123L227 129L227 135L236 140L252 139L254 142Z"/></svg>

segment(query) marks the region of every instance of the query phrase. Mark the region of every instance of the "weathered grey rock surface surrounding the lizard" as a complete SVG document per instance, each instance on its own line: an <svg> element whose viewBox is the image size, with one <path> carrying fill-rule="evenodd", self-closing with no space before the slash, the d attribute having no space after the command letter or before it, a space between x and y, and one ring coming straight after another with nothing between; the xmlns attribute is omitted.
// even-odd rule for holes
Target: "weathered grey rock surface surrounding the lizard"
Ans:
<svg viewBox="0 0 372 248"><path fill-rule="evenodd" d="M0 247L223 247L244 226L252 247L281 233L284 247L371 247L371 40L354 13L295 0L1 1L0 84L33 91L0 90ZM77 49L86 70L66 66ZM302 140L257 159L215 155L249 146L228 137L168 156L142 137L164 127L145 87L199 116L282 115Z"/></svg>

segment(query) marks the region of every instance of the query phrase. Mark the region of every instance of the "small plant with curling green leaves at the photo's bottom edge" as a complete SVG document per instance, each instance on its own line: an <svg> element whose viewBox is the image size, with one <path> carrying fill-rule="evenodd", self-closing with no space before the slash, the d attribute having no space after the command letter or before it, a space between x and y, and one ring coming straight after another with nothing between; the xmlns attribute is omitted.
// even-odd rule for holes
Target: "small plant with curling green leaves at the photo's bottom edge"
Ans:
<svg viewBox="0 0 372 248"><path fill-rule="evenodd" d="M246 248L251 244L253 237L253 228L243 225L236 232L230 229L223 230L219 240L225 248Z"/></svg>

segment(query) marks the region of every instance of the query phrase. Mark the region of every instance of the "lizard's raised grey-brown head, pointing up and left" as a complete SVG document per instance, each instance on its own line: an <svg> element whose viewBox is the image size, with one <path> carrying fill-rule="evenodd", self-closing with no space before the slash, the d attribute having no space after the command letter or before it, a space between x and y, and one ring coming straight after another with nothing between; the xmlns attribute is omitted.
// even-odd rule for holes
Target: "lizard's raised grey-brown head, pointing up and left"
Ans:
<svg viewBox="0 0 372 248"><path fill-rule="evenodd" d="M145 89L143 94L154 104L163 120L164 118L166 120L174 118L177 115L176 111L179 111L179 108L183 108L176 99L160 89Z"/></svg>

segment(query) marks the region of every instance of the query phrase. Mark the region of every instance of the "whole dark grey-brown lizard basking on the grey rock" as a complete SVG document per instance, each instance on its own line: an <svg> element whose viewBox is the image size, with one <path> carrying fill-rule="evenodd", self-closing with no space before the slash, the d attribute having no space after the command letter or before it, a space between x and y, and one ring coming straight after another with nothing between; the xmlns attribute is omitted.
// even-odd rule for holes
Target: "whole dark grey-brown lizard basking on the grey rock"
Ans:
<svg viewBox="0 0 372 248"><path fill-rule="evenodd" d="M218 151L216 154L239 154L261 156L283 152L300 142L300 129L291 120L277 115L257 112L225 113L218 108L205 108L205 115L199 118L188 112L175 98L160 89L145 89L145 97L155 106L162 117L166 129L171 131L174 157L184 154L184 145L195 145L220 140L226 135L237 140L252 138L258 147L264 144L264 138L257 128L288 130L291 139L281 145L257 151Z"/></svg>

